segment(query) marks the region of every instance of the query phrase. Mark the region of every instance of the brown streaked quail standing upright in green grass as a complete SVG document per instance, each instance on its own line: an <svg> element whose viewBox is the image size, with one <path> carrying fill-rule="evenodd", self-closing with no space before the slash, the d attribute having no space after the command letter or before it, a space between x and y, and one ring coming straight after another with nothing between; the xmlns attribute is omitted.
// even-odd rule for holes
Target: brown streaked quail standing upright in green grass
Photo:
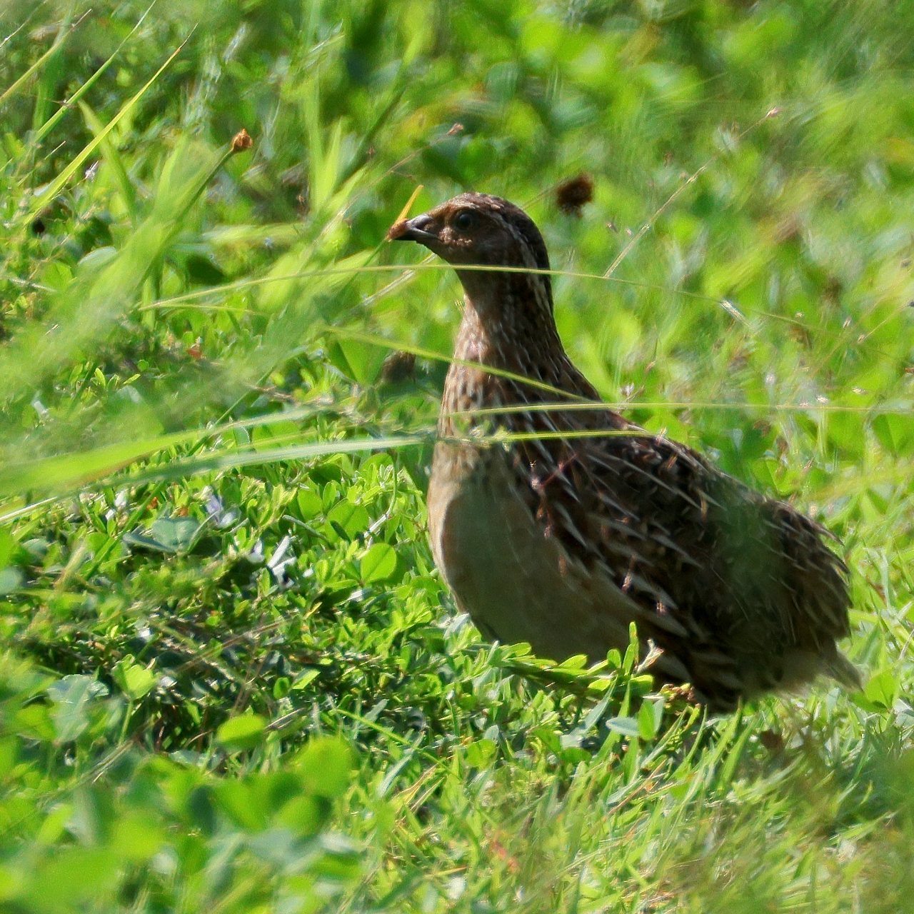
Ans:
<svg viewBox="0 0 914 914"><path fill-rule="evenodd" d="M558 335L546 244L523 209L463 193L388 239L418 242L462 283L428 525L486 638L599 663L634 622L655 683L712 713L820 674L860 688L836 644L850 634L836 537L600 402Z"/></svg>

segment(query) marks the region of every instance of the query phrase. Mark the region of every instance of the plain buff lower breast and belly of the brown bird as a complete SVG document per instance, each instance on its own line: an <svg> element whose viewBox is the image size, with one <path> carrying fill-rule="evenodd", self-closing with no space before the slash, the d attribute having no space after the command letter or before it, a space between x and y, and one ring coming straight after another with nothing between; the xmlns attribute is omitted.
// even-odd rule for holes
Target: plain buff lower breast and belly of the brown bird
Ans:
<svg viewBox="0 0 914 914"><path fill-rule="evenodd" d="M435 562L462 609L489 636L543 657L601 658L628 643L638 607L587 569L534 514L511 452L440 441L429 486Z"/></svg>

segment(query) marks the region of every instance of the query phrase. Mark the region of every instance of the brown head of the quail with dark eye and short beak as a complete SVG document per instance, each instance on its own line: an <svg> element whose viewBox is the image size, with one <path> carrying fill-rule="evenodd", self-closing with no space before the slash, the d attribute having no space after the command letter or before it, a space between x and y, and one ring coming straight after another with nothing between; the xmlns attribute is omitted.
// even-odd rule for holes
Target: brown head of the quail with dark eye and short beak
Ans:
<svg viewBox="0 0 914 914"><path fill-rule="evenodd" d="M501 197L461 194L388 231L392 241L418 241L456 269L463 288L475 303L507 283L526 287L520 297L545 305L551 313L552 287L543 274L463 270L466 266L548 270L549 256L539 229L523 209ZM498 277L496 280L495 277Z"/></svg>

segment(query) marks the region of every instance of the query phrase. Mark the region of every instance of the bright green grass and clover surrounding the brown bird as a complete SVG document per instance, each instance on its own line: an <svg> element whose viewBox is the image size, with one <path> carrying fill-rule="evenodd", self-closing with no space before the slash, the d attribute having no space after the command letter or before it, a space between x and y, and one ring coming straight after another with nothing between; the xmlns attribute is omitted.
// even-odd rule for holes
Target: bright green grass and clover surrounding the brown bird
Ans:
<svg viewBox="0 0 914 914"><path fill-rule="evenodd" d="M912 22L7 2L0 908L911 909ZM420 185L527 207L604 398L842 538L864 693L708 719L456 614Z"/></svg>

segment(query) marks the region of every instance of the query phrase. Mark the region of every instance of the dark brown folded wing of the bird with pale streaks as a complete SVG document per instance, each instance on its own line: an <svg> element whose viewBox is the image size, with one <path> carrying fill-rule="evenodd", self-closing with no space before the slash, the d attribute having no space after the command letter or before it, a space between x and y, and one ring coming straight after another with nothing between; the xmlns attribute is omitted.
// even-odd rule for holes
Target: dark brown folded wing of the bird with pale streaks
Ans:
<svg viewBox="0 0 914 914"><path fill-rule="evenodd" d="M516 467L547 535L653 611L643 636L736 677L740 658L770 664L773 685L787 654L834 658L849 600L828 532L683 445L609 424L604 437L530 441Z"/></svg>

